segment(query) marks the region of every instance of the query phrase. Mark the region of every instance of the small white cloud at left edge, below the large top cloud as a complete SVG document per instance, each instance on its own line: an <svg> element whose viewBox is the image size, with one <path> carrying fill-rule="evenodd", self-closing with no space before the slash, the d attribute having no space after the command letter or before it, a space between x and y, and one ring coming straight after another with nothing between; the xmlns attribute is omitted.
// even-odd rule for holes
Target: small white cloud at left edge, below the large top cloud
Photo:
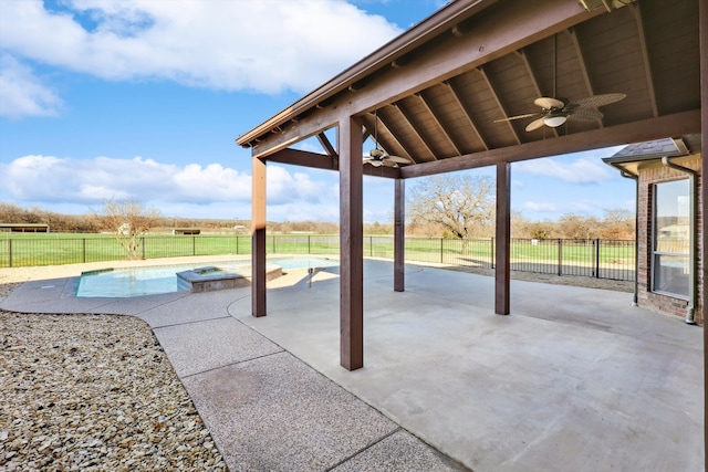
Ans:
<svg viewBox="0 0 708 472"><path fill-rule="evenodd" d="M62 101L32 70L10 54L0 53L0 116L54 116Z"/></svg>

